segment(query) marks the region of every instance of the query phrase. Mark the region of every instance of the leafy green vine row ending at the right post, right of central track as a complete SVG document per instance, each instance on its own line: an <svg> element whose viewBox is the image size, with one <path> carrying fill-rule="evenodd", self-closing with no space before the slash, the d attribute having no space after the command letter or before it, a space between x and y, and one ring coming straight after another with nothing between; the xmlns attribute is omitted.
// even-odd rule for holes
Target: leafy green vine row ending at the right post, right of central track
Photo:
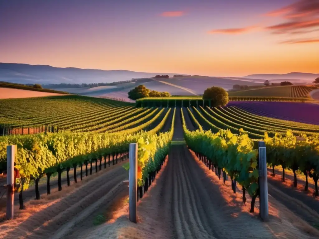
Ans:
<svg viewBox="0 0 319 239"><path fill-rule="evenodd" d="M223 169L233 180L245 187L249 195L255 195L258 189L258 151L253 149L253 141L248 135L232 134L229 130L219 130L216 134L211 131L189 131L182 111L181 114L188 147Z"/></svg>

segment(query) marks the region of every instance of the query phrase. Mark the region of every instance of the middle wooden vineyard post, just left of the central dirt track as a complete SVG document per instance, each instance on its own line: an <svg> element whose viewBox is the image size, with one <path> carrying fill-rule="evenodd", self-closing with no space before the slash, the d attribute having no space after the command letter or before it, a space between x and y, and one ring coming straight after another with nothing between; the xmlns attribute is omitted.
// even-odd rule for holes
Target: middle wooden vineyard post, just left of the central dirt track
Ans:
<svg viewBox="0 0 319 239"><path fill-rule="evenodd" d="M129 170L129 205L130 221L136 223L137 203L137 143L130 144L130 170Z"/></svg>

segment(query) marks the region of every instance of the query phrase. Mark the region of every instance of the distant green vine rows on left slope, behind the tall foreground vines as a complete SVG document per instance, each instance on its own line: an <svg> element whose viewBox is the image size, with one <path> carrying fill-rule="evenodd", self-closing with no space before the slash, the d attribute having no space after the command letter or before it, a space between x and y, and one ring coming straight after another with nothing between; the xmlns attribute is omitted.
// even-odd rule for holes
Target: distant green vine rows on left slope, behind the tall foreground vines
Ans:
<svg viewBox="0 0 319 239"><path fill-rule="evenodd" d="M57 105L59 105L57 107ZM0 132L137 132L165 117L165 110L82 96L1 100Z"/></svg>

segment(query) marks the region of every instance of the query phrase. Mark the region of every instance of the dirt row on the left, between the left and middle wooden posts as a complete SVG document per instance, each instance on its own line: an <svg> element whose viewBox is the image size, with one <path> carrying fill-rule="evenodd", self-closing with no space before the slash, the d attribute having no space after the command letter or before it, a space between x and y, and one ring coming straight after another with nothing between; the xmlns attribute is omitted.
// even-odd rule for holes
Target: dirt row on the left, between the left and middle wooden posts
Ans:
<svg viewBox="0 0 319 239"><path fill-rule="evenodd" d="M80 221L99 211L100 205L108 207L118 196L128 195L127 187L122 185L128 179L122 167L126 162L85 177L63 191L30 200L25 210L15 206L14 219L0 222L0 238L64 238ZM5 213L0 216L4 218Z"/></svg>

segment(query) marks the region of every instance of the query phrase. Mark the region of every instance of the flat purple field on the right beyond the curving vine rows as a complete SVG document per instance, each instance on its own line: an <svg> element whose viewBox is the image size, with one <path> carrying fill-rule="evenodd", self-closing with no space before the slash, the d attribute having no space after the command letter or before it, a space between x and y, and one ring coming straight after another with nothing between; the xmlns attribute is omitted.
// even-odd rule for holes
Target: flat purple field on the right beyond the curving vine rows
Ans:
<svg viewBox="0 0 319 239"><path fill-rule="evenodd" d="M319 125L319 105L294 102L231 101L227 106L237 106L250 113Z"/></svg>

